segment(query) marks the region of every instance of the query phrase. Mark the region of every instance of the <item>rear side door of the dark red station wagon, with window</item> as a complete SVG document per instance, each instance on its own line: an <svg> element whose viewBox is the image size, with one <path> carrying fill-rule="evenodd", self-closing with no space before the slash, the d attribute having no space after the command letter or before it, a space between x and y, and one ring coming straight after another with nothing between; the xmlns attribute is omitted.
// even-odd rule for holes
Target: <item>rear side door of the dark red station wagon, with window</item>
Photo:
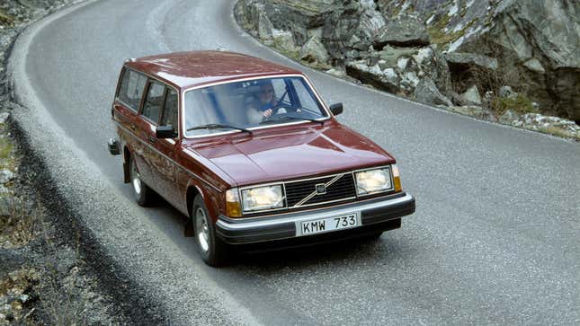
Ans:
<svg viewBox="0 0 580 326"><path fill-rule="evenodd" d="M135 120L136 136L139 145L136 147L137 155L143 162L138 166L141 179L147 186L159 192L157 185L156 164L159 164L159 154L156 151L156 128L161 115L161 108L165 99L165 84L149 78L143 103L141 106L139 119Z"/></svg>

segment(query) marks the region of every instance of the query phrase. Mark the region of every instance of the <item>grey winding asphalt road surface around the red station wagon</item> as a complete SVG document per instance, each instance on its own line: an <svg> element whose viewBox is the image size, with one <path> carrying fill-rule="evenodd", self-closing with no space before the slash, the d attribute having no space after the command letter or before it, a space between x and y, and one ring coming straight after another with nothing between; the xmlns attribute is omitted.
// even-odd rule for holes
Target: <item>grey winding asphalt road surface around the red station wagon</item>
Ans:
<svg viewBox="0 0 580 326"><path fill-rule="evenodd" d="M228 0L98 1L14 47L16 112L62 197L176 324L580 324L580 145L436 110L298 66ZM206 267L179 214L140 208L104 143L123 60L228 48L306 71L397 157L415 215L377 242Z"/></svg>

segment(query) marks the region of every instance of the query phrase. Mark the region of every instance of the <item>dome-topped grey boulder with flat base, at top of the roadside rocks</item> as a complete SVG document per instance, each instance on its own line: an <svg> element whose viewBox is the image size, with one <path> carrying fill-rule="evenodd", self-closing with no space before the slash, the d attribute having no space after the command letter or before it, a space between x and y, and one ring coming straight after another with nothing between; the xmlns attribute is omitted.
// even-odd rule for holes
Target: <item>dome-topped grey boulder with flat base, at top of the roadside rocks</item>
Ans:
<svg viewBox="0 0 580 326"><path fill-rule="evenodd" d="M385 45L400 47L424 47L430 44L429 33L424 22L413 16L400 16L382 27L372 46L383 48Z"/></svg>

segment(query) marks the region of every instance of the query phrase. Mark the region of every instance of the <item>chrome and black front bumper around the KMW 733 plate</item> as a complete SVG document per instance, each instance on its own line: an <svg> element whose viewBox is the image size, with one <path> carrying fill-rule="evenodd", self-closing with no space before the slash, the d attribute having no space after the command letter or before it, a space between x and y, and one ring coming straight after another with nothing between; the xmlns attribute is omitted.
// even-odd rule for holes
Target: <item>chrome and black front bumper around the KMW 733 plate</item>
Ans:
<svg viewBox="0 0 580 326"><path fill-rule="evenodd" d="M360 212L361 225L352 229L329 233L298 236L297 225L303 221L316 218L347 215ZM249 218L229 218L219 216L216 222L216 232L221 240L229 244L247 244L257 242L273 242L290 238L314 238L324 234L326 238L336 234L337 238L348 237L352 233L364 231L376 233L393 229L389 221L415 212L415 198L406 193L398 193L382 198L344 204L336 207L319 208L315 210L287 213L274 216ZM299 226L298 226L299 227Z"/></svg>

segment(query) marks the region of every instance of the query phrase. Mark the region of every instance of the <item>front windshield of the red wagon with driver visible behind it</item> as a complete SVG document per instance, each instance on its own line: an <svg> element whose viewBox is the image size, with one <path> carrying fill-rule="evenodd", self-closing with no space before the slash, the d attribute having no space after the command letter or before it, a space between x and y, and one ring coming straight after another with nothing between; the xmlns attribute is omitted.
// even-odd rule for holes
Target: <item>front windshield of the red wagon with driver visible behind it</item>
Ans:
<svg viewBox="0 0 580 326"><path fill-rule="evenodd" d="M314 91L299 76L196 89L185 93L184 104L186 137L328 117Z"/></svg>

